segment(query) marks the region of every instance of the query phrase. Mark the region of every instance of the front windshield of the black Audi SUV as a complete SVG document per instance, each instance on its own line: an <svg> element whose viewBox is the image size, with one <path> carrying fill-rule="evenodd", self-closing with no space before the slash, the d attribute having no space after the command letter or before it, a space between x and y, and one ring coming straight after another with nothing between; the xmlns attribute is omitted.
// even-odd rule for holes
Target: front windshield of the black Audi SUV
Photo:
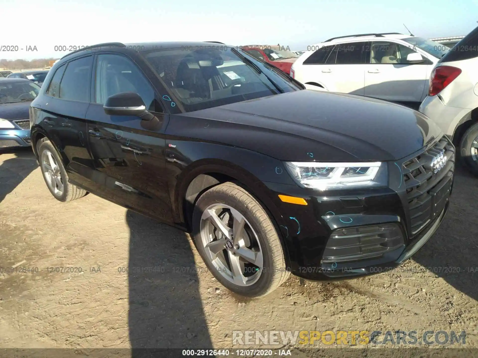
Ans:
<svg viewBox="0 0 478 358"><path fill-rule="evenodd" d="M302 89L244 51L198 47L152 50L144 55L173 95L163 95L173 113L177 106L192 112Z"/></svg>

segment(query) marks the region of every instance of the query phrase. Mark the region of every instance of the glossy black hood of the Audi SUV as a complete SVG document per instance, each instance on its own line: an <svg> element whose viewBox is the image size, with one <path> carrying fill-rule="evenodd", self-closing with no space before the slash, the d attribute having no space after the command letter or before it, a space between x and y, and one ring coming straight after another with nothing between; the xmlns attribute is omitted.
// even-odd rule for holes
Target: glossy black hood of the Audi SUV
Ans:
<svg viewBox="0 0 478 358"><path fill-rule="evenodd" d="M189 129L180 129L183 135L288 161L397 160L441 136L428 117L408 107L311 90L181 116L195 117Z"/></svg>

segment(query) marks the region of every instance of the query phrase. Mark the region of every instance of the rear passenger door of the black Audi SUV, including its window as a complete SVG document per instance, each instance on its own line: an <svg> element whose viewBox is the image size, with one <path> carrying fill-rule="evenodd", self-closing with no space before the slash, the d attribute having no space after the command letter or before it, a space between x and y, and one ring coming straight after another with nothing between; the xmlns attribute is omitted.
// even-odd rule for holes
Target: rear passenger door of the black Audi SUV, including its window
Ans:
<svg viewBox="0 0 478 358"><path fill-rule="evenodd" d="M92 189L87 178L94 172L87 147L85 116L90 101L93 56L77 58L58 67L41 106L41 125L57 148L71 182Z"/></svg>

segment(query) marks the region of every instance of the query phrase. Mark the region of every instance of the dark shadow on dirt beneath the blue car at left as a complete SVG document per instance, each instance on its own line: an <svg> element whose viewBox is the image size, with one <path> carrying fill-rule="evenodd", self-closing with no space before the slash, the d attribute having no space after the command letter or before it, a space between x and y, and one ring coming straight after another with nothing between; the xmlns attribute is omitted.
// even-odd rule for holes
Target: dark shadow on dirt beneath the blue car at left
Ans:
<svg viewBox="0 0 478 358"><path fill-rule="evenodd" d="M0 149L0 156L3 154L14 154L16 157L0 163L0 203L38 168L32 148Z"/></svg>

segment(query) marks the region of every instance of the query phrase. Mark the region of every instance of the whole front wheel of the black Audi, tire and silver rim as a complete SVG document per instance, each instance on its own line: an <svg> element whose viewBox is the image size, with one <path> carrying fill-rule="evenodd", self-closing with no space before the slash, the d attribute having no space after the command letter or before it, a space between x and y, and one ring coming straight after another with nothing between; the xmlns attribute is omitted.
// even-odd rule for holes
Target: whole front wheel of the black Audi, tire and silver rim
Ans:
<svg viewBox="0 0 478 358"><path fill-rule="evenodd" d="M217 185L199 197L193 232L208 269L238 295L267 295L290 276L269 215L247 190L234 183Z"/></svg>

